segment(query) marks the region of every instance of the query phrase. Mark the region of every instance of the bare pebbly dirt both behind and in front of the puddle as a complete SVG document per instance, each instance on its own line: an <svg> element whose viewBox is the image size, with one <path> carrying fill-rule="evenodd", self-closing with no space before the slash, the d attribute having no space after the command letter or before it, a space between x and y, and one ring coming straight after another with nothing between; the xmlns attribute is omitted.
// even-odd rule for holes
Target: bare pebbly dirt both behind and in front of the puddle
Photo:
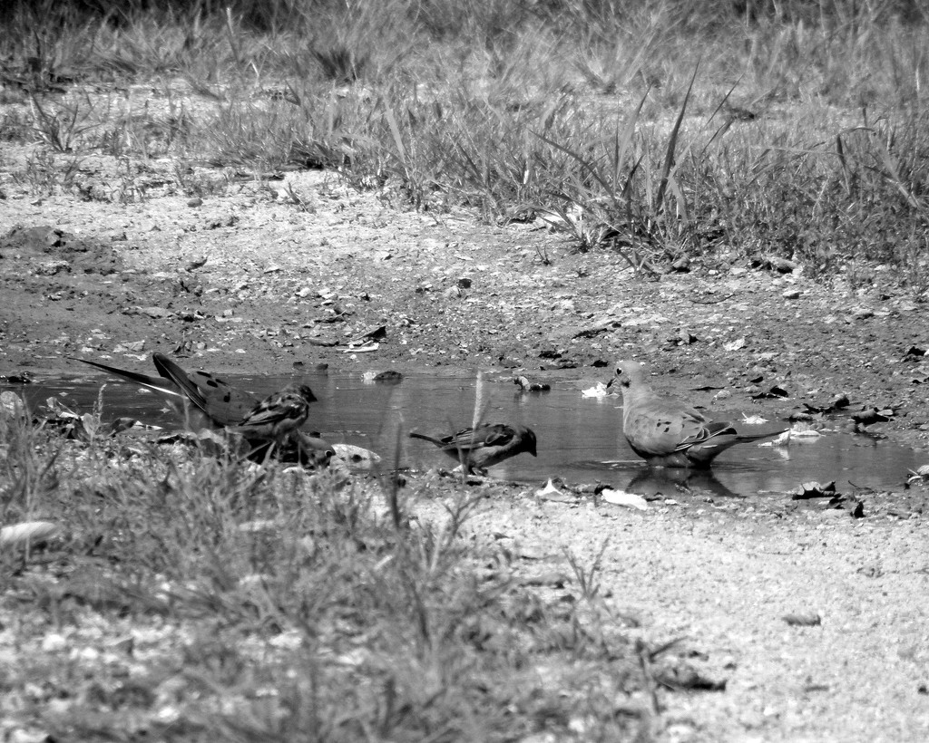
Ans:
<svg viewBox="0 0 929 743"><path fill-rule="evenodd" d="M105 182L102 165L87 167ZM622 355L652 362L663 385L704 380L701 404L725 387L727 408L749 407L777 386L789 397L766 405L787 415L844 392L848 411L892 409L875 428L926 445L929 361L910 352L929 346L925 308L879 273L824 288L713 259L638 278L619 255L574 252L537 224L394 211L321 174L290 181L304 207L279 199L281 184L121 205L36 198L7 179L0 374L84 374L69 355L145 368L163 351L217 372L502 365L606 380ZM907 518L865 519L492 493L476 538L558 570L562 548L589 563L608 539L611 605L651 641L687 637L693 662L726 679L725 692L674 694L663 737L929 738L924 490L909 493ZM789 626L787 614L822 623Z"/></svg>

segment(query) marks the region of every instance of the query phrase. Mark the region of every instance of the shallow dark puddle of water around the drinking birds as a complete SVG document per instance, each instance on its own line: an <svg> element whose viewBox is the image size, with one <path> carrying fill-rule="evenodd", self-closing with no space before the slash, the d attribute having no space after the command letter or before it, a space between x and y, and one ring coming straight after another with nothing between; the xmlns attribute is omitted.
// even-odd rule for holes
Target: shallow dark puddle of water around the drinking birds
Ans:
<svg viewBox="0 0 929 743"><path fill-rule="evenodd" d="M258 396L280 389L289 381L228 379ZM314 429L330 442L354 443L382 455L395 450L398 429L444 435L470 425L473 417L473 377L412 374L390 385L366 382L360 375L320 373L307 375L306 381L320 399L313 404L310 418ZM165 428L177 427L177 419L163 410L155 395L102 375L15 389L25 391L32 404L57 395L73 409L85 412L96 402L103 382L104 417L134 416ZM739 445L721 455L712 472L652 470L622 438L618 398L583 398L581 385L570 383L556 385L549 392L520 394L509 378L488 378L481 389L487 406L485 420L520 422L534 429L539 439L537 458L519 455L491 470L491 475L506 480L598 480L635 493L668 495L685 485L718 496L749 496L790 491L806 480L836 480L840 490L849 480L875 489L899 488L908 468L926 463L924 455L892 443L834 433L813 440L794 440L787 447ZM779 421L771 421L761 429L749 427L747 431L777 429L779 425ZM428 442L406 437L401 442L405 466L451 464Z"/></svg>

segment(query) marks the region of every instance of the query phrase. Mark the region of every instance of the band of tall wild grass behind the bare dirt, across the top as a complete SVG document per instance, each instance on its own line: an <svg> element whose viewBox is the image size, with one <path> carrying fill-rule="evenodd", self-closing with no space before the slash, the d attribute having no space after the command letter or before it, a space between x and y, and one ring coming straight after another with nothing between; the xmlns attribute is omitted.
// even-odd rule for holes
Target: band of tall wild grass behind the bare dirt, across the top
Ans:
<svg viewBox="0 0 929 743"><path fill-rule="evenodd" d="M916 0L14 2L3 23L7 141L338 169L418 209L554 215L647 270L777 256L929 285ZM160 105L114 115L138 83Z"/></svg>

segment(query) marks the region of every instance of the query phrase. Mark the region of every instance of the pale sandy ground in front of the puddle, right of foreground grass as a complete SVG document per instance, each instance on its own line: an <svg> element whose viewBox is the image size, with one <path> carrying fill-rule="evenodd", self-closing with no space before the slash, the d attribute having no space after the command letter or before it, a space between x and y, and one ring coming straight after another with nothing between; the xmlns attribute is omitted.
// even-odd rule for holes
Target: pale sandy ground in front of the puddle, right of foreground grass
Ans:
<svg viewBox="0 0 929 743"><path fill-rule="evenodd" d="M661 697L661 739L924 740L922 519L832 513L661 503L640 513L527 498L494 501L471 528L525 546L527 570L564 570L564 549L590 564L608 540L602 590L618 617L641 622L630 632L683 638L687 662L726 681L725 691Z"/></svg>

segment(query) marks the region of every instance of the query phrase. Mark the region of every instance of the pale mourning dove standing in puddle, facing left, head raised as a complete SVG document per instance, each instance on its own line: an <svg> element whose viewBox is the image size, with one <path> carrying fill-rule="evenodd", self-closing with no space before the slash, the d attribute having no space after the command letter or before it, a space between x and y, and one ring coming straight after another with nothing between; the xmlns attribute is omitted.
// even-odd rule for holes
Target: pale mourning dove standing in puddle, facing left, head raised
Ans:
<svg viewBox="0 0 929 743"><path fill-rule="evenodd" d="M711 421L694 408L652 391L645 369L635 361L616 365L610 386L622 389L622 433L635 454L656 467L709 467L713 458L737 443L777 436L740 434L732 423Z"/></svg>

